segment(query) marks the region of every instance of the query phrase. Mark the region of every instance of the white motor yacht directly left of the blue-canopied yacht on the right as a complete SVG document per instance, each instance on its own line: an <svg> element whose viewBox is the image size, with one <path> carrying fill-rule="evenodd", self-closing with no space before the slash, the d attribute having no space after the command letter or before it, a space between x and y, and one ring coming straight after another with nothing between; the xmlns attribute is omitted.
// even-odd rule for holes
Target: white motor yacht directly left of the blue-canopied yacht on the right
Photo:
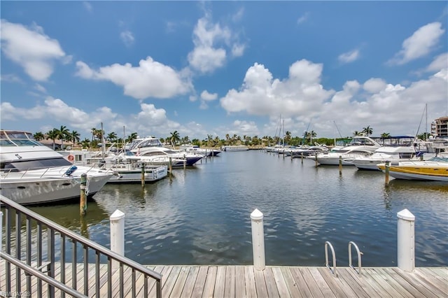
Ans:
<svg viewBox="0 0 448 298"><path fill-rule="evenodd" d="M307 158L315 159L318 164L323 165L338 165L339 159L342 158L343 166L353 166L351 162L347 162L346 160L370 156L380 147L381 144L368 136L354 136L346 146L337 146L329 152L314 156L309 155Z"/></svg>

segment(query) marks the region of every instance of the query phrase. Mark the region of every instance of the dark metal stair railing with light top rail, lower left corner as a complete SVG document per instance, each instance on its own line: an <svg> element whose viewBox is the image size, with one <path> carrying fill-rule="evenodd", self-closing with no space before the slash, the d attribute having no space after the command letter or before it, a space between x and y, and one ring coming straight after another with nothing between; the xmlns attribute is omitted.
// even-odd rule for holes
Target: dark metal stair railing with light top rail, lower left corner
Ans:
<svg viewBox="0 0 448 298"><path fill-rule="evenodd" d="M93 241L90 241L89 239L85 239L83 236L80 236L79 234L76 234L75 232L72 232L69 229L66 229L65 227L62 227L61 225L58 225L55 222L52 222L51 220L48 220L47 218L44 218L41 215L38 215L37 213L34 213L33 211L29 210L28 208L25 208L24 206L21 206L20 204L15 203L15 201L12 201L6 197L3 197L0 195L0 205L3 205L3 207L6 210L6 250L5 253L10 255L11 250L11 234L13 233L11 220L13 218L13 213L10 209L13 209L15 211L15 250L16 250L16 259L20 260L20 255L22 253L22 245L21 245L21 239L22 239L22 215L25 215L26 217L26 255L27 255L27 264L31 264L31 220L35 220L37 223L37 231L38 234L36 236L36 253L37 255L37 265L41 266L42 263L42 234L43 234L43 226L47 227L48 232L48 262L50 262L49 265L49 272L48 275L52 278L55 277L55 234L59 234L61 237L61 250L60 250L60 262L61 262L61 279L62 283L64 283L65 279L65 246L66 246L66 239L73 243L73 258L72 258L72 264L73 268L76 268L76 245L79 243L83 247L83 258L84 258L84 295L88 295L89 293L89 285L87 281L89 280L88 276L88 250L93 250L95 253L95 283L96 283L96 289L97 296L99 295L99 261L101 255L104 255L107 257L107 263L108 263L108 292L109 296L112 295L112 284L111 284L111 276L112 276L112 262L117 262L119 264L119 270L120 270L120 293L121 296L124 295L124 283L123 280L123 271L124 267L130 267L132 269L132 296L135 297L135 276L136 272L139 272L140 274L144 275L144 295L145 297L148 295L148 278L155 279L156 283L156 295L158 298L162 297L162 274L159 274L158 272L155 272L151 269L148 269L144 267L143 265L134 262L133 260L128 259L127 257L124 257L122 255L118 255L118 253L114 253L112 250L109 250L108 248L105 248L104 246L100 246L98 243L95 243ZM17 276L20 276L20 270L16 271ZM72 270L72 283L73 283L73 289L76 289L76 270ZM20 277L16 277L16 288L20 291ZM11 276L10 276L10 264L6 263L6 291L10 292L11 288ZM41 285L38 283L38 291L41 290ZM52 292L54 295L54 288L50 288L49 285L49 292ZM50 296L52 296L50 294Z"/></svg>

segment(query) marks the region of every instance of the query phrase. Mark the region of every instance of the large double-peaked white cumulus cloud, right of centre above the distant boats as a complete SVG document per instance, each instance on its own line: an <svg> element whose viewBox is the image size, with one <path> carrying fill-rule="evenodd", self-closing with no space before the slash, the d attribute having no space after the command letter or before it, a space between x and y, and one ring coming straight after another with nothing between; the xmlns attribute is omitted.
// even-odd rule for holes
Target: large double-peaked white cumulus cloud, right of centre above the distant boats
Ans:
<svg viewBox="0 0 448 298"><path fill-rule="evenodd" d="M288 78L279 80L264 65L255 63L246 71L239 90L232 89L221 98L221 106L229 113L249 115L314 113L332 94L321 85L322 68L322 64L302 59L290 66Z"/></svg>

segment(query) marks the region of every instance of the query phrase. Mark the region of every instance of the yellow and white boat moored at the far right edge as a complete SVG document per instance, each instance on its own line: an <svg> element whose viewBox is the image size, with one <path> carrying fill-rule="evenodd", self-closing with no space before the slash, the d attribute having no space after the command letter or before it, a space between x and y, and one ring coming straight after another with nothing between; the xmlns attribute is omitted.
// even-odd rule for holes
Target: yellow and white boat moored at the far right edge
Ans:
<svg viewBox="0 0 448 298"><path fill-rule="evenodd" d="M386 172L386 163L377 166L381 171ZM448 155L428 160L398 162L389 165L388 171L389 175L396 179L448 182Z"/></svg>

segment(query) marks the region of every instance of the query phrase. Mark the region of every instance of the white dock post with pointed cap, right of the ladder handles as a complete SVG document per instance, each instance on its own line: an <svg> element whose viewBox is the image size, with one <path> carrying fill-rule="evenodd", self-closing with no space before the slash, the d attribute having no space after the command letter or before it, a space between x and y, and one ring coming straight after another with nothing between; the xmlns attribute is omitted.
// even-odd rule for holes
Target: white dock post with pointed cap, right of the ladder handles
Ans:
<svg viewBox="0 0 448 298"><path fill-rule="evenodd" d="M415 269L415 216L407 209L397 213L398 268L412 272Z"/></svg>

